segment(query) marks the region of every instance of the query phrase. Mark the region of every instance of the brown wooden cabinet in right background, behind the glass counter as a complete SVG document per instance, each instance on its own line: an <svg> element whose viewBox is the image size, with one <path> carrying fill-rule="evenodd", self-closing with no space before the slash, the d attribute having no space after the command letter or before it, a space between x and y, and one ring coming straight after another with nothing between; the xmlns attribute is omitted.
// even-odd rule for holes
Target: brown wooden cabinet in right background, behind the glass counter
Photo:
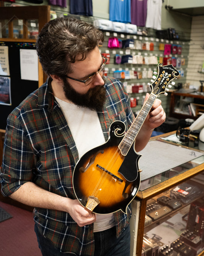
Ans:
<svg viewBox="0 0 204 256"><path fill-rule="evenodd" d="M171 93L169 114L171 117L196 120L202 113L204 113L204 93Z"/></svg>

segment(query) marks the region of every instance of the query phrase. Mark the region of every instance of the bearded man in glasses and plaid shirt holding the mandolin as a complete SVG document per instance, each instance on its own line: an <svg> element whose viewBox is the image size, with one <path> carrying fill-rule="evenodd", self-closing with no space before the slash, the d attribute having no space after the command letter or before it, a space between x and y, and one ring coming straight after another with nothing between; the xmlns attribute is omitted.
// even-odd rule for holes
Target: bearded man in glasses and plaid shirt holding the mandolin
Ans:
<svg viewBox="0 0 204 256"><path fill-rule="evenodd" d="M121 81L103 76L103 39L74 18L44 25L36 49L47 81L8 117L2 194L34 207L43 256L130 254L131 204L127 214L95 214L79 203L72 184L77 161L108 140L111 123L120 120L127 130L134 120ZM157 99L135 139L137 152L163 121Z"/></svg>

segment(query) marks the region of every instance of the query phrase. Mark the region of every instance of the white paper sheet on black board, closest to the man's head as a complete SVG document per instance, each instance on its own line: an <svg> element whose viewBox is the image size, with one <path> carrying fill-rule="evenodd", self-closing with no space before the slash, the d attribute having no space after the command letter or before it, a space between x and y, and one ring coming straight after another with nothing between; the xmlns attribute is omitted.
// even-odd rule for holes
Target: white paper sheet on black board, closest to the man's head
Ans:
<svg viewBox="0 0 204 256"><path fill-rule="evenodd" d="M21 79L38 81L38 55L36 50L20 49Z"/></svg>

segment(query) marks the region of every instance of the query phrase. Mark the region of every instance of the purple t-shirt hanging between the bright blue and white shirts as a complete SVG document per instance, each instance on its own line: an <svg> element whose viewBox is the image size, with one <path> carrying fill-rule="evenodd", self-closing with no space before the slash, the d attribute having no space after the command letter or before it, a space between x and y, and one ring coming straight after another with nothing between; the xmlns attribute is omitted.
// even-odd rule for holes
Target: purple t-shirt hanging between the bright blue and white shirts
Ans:
<svg viewBox="0 0 204 256"><path fill-rule="evenodd" d="M147 0L131 0L131 23L145 27L147 18Z"/></svg>

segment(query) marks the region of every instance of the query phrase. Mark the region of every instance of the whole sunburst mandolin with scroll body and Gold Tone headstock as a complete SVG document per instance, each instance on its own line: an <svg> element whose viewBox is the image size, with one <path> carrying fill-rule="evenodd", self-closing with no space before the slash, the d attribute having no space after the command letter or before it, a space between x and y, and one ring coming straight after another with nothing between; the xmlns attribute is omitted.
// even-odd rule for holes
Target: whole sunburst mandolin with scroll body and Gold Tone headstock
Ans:
<svg viewBox="0 0 204 256"><path fill-rule="evenodd" d="M122 121L114 121L109 127L109 138L83 155L73 171L75 195L85 208L93 213L108 214L127 206L140 186L139 155L135 151L135 138L152 108L157 96L171 87L169 83L179 76L173 65L158 64L158 75L150 84L152 92L133 121L129 130ZM174 82L173 82L174 83ZM173 84L172 83L172 84Z"/></svg>

